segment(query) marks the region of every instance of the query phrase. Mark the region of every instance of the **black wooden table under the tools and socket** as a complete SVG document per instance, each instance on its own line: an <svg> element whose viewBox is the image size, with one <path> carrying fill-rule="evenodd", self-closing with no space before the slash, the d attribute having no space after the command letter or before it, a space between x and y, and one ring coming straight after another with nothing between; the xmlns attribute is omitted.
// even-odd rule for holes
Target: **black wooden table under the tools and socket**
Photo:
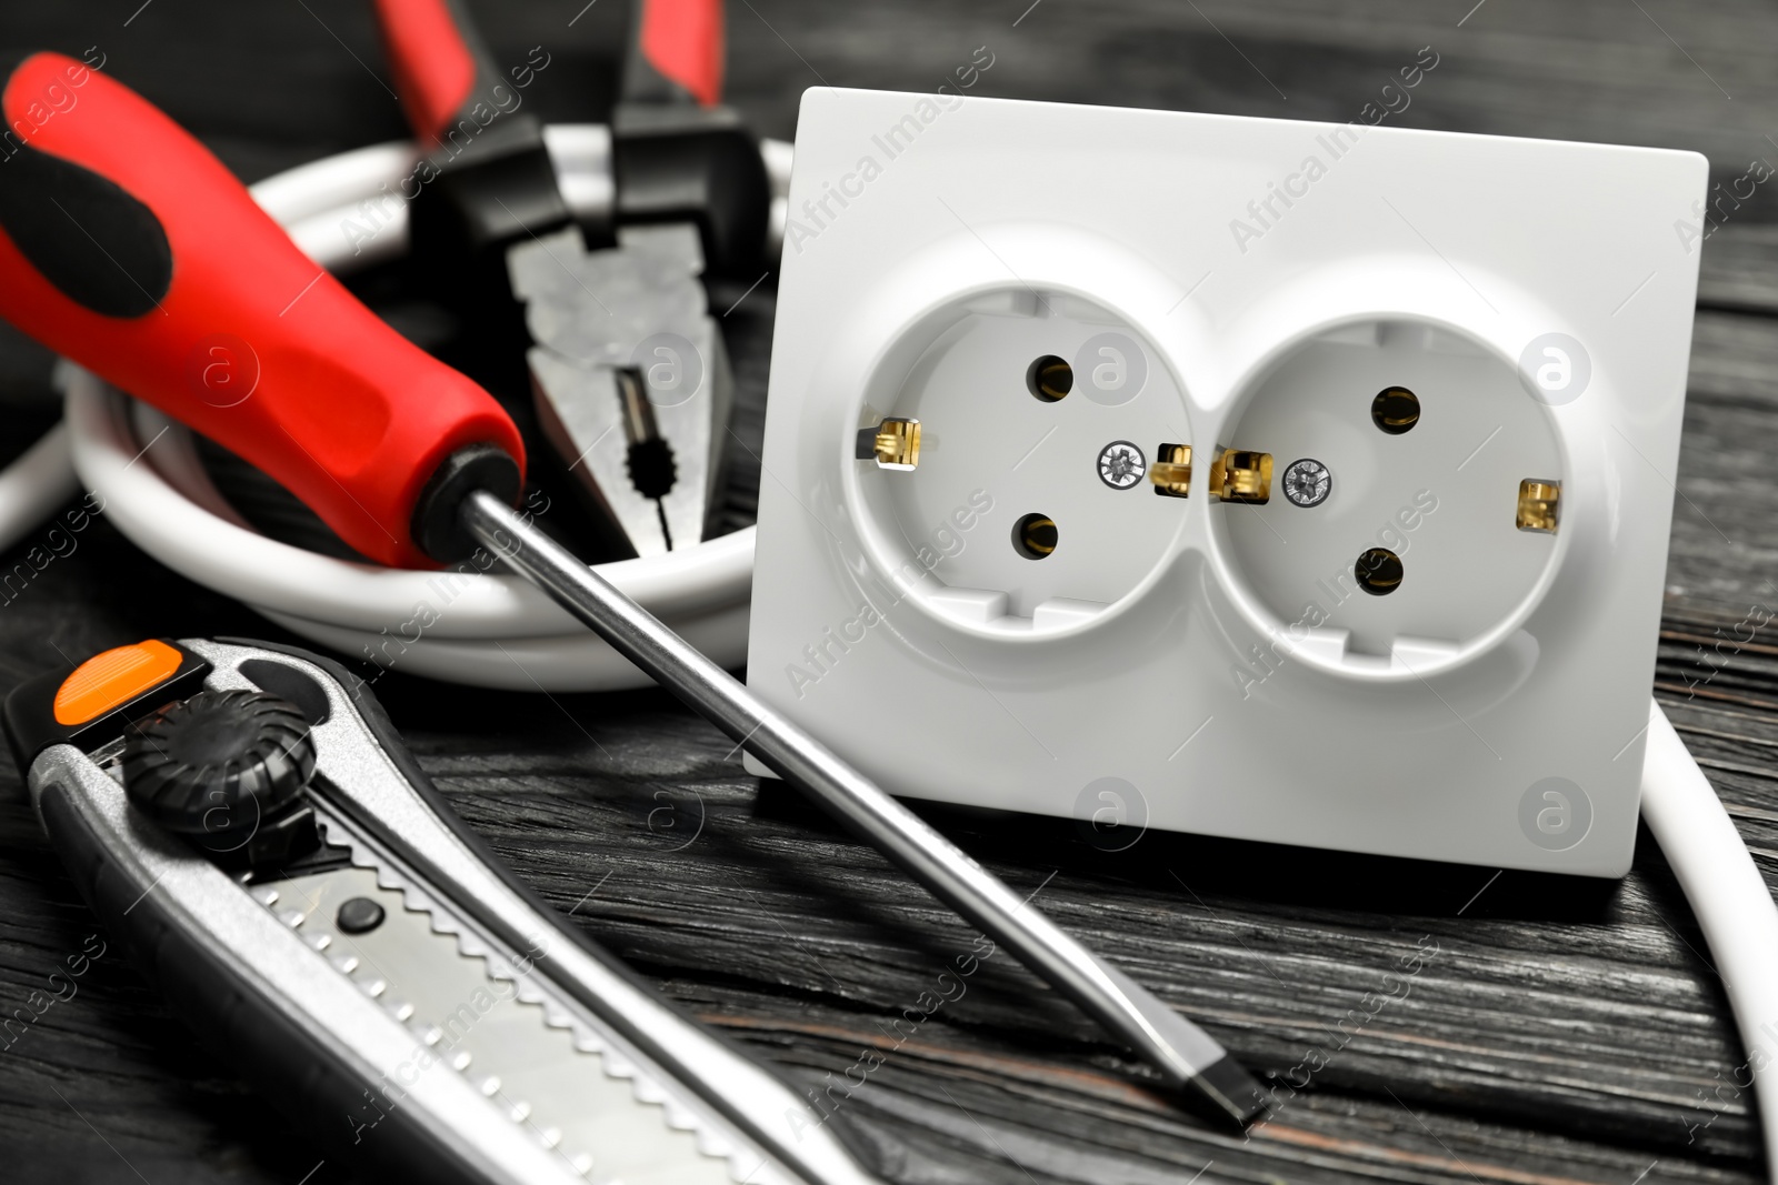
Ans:
<svg viewBox="0 0 1778 1185"><path fill-rule="evenodd" d="M619 2L480 11L498 52L549 46L558 64L539 103L585 117L610 98L597 44ZM781 137L807 85L932 89L978 46L994 55L981 94L1296 119L1351 119L1433 46L1440 66L1403 126L1691 147L1725 188L1753 162L1778 163L1778 5L1751 0L740 0L729 20L731 98ZM245 179L404 131L364 0L16 2L0 43L98 46L110 75ZM1703 247L1655 695L1773 879L1778 638L1718 645L1778 606L1766 188L1723 206ZM766 284L725 320L749 444L770 314ZM48 368L0 338L5 453L53 421ZM743 521L757 473L736 458ZM0 689L62 656L231 632L283 638L100 522L0 604ZM1005 958L912 1038L891 1034L889 1018L969 945L967 927L871 849L761 791L729 741L665 696L549 702L400 673L379 691L469 823L663 993L811 1087L884 1054L843 1116L891 1180L1760 1176L1723 990L1646 833L1625 881L1591 883L1157 833L1108 856L1067 824L928 812L1012 885L1042 887L1056 922L1248 1066L1294 1084L1321 1050L1309 1087L1243 1141L1147 1091L1140 1066ZM12 1013L96 924L9 767L0 782L0 1013ZM1390 990L1405 956L1419 956L1410 990ZM0 1046L0 1178L59 1185L350 1180L196 1052L116 952Z"/></svg>

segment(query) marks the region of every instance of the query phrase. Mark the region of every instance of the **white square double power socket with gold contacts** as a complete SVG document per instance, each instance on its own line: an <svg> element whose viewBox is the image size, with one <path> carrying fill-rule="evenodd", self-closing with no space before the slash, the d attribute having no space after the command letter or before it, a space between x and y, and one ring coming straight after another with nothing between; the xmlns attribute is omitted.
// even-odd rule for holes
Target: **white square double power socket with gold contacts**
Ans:
<svg viewBox="0 0 1778 1185"><path fill-rule="evenodd" d="M749 686L896 794L1102 847L1622 876L1705 185L809 91Z"/></svg>

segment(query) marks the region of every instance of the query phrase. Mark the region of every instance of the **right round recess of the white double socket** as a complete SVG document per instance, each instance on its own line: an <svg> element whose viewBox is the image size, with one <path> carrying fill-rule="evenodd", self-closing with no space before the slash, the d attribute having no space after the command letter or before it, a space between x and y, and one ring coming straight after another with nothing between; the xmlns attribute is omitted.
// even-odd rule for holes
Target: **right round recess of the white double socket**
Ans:
<svg viewBox="0 0 1778 1185"><path fill-rule="evenodd" d="M1300 341L1223 430L1268 453L1264 503L1211 508L1236 602L1296 657L1362 679L1449 670L1531 613L1561 556L1565 449L1550 410L1483 341L1366 320ZM1321 501L1285 474L1330 478ZM1205 457L1204 462L1211 462Z"/></svg>

